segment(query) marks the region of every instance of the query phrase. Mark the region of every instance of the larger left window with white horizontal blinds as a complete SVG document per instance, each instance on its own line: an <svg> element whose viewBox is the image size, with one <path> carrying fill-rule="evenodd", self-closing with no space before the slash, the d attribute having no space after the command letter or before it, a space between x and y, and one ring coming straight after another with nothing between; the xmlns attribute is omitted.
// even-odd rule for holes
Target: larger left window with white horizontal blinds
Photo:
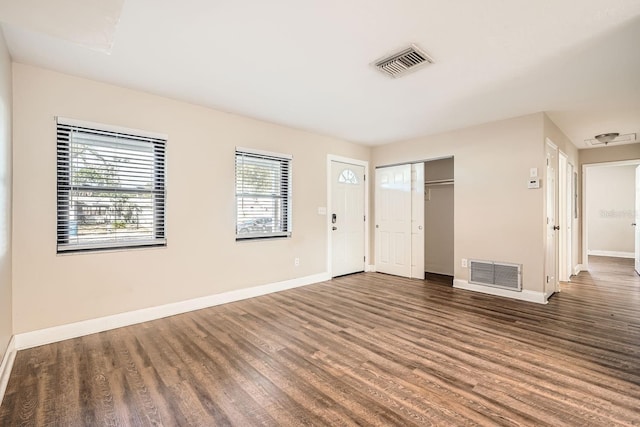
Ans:
<svg viewBox="0 0 640 427"><path fill-rule="evenodd" d="M166 139L58 119L58 253L165 246Z"/></svg>

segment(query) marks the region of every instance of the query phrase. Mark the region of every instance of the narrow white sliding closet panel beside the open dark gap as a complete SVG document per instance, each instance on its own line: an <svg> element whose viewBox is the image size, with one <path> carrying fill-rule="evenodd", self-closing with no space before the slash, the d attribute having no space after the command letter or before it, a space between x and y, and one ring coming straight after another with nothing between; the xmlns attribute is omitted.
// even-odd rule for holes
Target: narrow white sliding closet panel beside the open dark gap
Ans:
<svg viewBox="0 0 640 427"><path fill-rule="evenodd" d="M424 279L424 163L411 165L411 277Z"/></svg>

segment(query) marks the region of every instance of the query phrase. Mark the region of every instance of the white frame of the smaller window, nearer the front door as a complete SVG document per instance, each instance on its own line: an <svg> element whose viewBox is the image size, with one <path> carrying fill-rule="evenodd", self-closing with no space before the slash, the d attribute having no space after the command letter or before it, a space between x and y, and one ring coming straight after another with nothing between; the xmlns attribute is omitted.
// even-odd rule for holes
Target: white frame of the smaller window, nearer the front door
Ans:
<svg viewBox="0 0 640 427"><path fill-rule="evenodd" d="M235 149L235 153L234 153L234 164L235 164L235 168L234 168L234 183L235 183L235 240L236 242L241 242L241 241L252 241L252 240L265 240L265 239L288 239L292 237L292 213L293 213L293 206L292 206L292 199L293 199L293 187L292 187L292 182L293 182L293 156L291 156L290 154L282 154L282 153L275 153L275 152L270 152L270 151L263 151L263 150L256 150L256 149L252 149L252 148L245 148L245 147L236 147ZM256 194L251 194L251 193L246 193L246 192L241 192L240 188L239 188L239 169L238 169L238 159L240 157L243 158L252 158L256 161L274 161L274 162L278 162L279 166L280 166L280 171L279 171L279 176L281 177L280 180L276 180L276 181L269 181L271 182L274 186L277 186L280 188L280 194L279 195L256 195ZM282 176L286 176L286 184L282 185ZM265 232L248 232L248 233L240 233L240 229L239 226L241 224L241 222L239 221L239 214L240 214L240 199L242 197L247 197L247 196L255 196L256 198L260 197L260 198L272 198L274 201L275 200L280 200L282 201L282 206L279 209L274 208L274 214L276 212L280 212L280 216L282 217L282 220L280 221L280 225L282 229L279 229L277 231L272 231L270 233L265 233Z"/></svg>

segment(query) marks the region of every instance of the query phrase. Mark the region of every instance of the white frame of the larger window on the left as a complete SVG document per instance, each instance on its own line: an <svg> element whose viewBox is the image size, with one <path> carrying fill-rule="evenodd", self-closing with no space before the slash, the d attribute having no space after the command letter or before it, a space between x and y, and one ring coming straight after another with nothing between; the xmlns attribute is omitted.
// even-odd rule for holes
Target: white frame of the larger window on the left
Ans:
<svg viewBox="0 0 640 427"><path fill-rule="evenodd" d="M86 135L92 135L94 137L106 137L113 138L112 141L103 141L99 143L96 139L94 146L100 147L104 150L105 146L113 144L114 147L122 147L121 149L129 151L131 147L140 144L144 149L140 149L137 152L150 152L152 156L152 184L151 188L127 188L126 186L117 185L77 185L74 184L72 166L72 150L74 146L73 134L74 132L81 132ZM56 253L57 254L72 254L83 252L97 252L97 251L109 251L109 250L123 250L123 249L136 249L136 248L149 248L149 247L166 247L167 246L167 233L166 233L166 214L167 214L167 136L164 134L157 134L152 132L140 131L135 129L128 129L116 126L110 126L100 123L85 122L75 119L69 119L64 117L56 117ZM122 139L122 143L118 143L117 139ZM126 147L126 145L129 147ZM147 145L146 147L144 145ZM138 171L134 168L129 168L127 176ZM89 242L71 242L72 240L72 204L74 191L85 192L102 192L102 193L115 193L115 194L146 194L150 196L152 206L152 227L153 230L149 233L148 237L141 236L139 238L130 237L122 238L121 236L114 234L111 239L97 238L94 241ZM75 196L79 198L80 196ZM98 198L100 196L96 196ZM112 202L114 203L114 202ZM107 204L107 206L110 206ZM75 219L78 227L78 220Z"/></svg>

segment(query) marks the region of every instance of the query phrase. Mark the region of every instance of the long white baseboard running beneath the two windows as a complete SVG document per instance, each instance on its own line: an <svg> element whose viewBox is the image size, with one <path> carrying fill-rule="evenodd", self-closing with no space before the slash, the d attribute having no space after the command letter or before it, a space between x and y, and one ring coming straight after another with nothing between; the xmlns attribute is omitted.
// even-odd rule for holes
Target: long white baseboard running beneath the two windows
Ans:
<svg viewBox="0 0 640 427"><path fill-rule="evenodd" d="M246 289L238 289L236 291L208 295L205 297L194 298L187 301L180 301L157 307L143 308L141 310L114 314L97 319L89 319L81 322L54 326L52 328L25 332L15 335L15 348L16 350L24 350L27 348L63 341L70 338L76 338L83 335L95 334L97 332L108 331L110 329L121 328L123 326L135 325L136 323L148 322L150 320L156 320L163 317L186 313L189 311L200 310L202 308L213 307L220 304L227 304L234 301L240 301L243 299L266 295L273 292L280 292L300 286L311 285L313 283L324 282L330 279L331 275L329 273L320 273L312 276L285 280L283 282L254 286Z"/></svg>

